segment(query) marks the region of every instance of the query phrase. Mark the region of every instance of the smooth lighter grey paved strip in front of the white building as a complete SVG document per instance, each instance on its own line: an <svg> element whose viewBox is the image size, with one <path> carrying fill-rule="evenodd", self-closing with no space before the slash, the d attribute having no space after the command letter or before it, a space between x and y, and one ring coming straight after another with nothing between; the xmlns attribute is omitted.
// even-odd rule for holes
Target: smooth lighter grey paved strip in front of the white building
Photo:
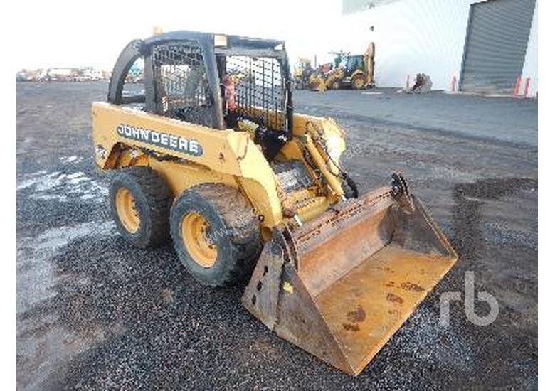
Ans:
<svg viewBox="0 0 555 391"><path fill-rule="evenodd" d="M433 92L424 95L384 88L356 94L349 90L296 96L297 105L317 107L334 117L371 117L374 124L399 122L421 131L463 135L527 146L537 146L536 100L507 99ZM352 99L359 95L358 99Z"/></svg>

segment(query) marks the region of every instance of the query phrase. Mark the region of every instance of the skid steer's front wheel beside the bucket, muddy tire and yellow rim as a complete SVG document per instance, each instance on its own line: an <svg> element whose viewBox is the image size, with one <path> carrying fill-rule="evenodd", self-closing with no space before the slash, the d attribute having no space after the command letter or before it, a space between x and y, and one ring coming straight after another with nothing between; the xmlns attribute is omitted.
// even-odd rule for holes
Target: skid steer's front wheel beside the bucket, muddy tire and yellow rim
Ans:
<svg viewBox="0 0 555 391"><path fill-rule="evenodd" d="M181 263L210 286L250 277L262 248L250 203L221 183L204 183L179 195L171 207L170 230Z"/></svg>

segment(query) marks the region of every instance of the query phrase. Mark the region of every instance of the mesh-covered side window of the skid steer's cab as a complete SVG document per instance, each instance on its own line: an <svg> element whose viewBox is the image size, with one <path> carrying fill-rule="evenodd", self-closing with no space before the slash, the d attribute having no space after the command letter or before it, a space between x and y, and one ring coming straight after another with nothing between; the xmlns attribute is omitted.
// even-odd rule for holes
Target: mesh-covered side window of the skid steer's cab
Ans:
<svg viewBox="0 0 555 391"><path fill-rule="evenodd" d="M155 46L152 67L157 114L212 125L211 95L199 43L179 41Z"/></svg>

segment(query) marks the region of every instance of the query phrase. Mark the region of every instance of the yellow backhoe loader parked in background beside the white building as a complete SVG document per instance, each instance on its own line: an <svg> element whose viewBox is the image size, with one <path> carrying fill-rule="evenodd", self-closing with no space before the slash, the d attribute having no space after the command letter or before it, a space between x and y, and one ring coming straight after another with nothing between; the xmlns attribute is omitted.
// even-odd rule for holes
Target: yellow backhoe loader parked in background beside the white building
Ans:
<svg viewBox="0 0 555 391"><path fill-rule="evenodd" d="M312 90L322 92L340 88L362 90L374 87L374 52L374 42L371 42L364 55L345 55L332 70L313 75L310 81Z"/></svg>

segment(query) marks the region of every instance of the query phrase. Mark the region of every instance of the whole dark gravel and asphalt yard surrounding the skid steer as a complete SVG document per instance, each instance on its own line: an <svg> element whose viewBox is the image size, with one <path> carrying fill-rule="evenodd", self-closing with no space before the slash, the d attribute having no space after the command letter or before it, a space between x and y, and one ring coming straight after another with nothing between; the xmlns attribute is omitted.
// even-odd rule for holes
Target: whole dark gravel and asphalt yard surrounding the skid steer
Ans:
<svg viewBox="0 0 555 391"><path fill-rule="evenodd" d="M93 162L90 102L107 84L17 86L17 383L58 389L452 389L537 387L537 103L444 95L295 94L299 112L346 129L343 164L362 191L402 171L459 262L359 377L277 338L242 288L196 283L168 245L115 232L109 176ZM445 113L445 116L444 116ZM499 316L475 326L476 291ZM478 314L488 306L477 301Z"/></svg>

